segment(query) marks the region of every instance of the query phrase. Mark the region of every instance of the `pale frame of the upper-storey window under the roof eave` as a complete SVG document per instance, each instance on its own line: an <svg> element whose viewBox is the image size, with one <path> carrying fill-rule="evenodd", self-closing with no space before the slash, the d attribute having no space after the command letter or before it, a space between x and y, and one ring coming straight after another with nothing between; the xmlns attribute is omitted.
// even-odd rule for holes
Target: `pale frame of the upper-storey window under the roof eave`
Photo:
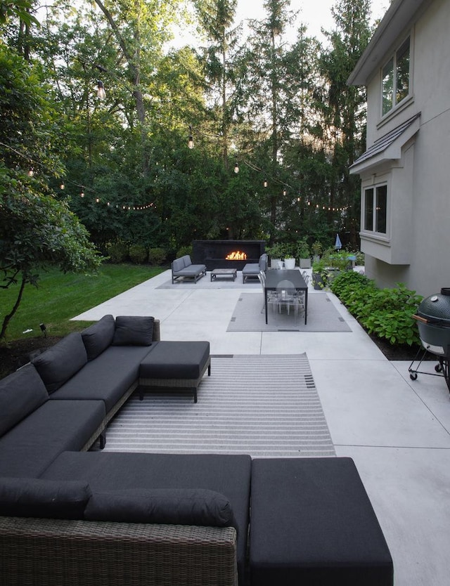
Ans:
<svg viewBox="0 0 450 586"><path fill-rule="evenodd" d="M399 92L399 62L404 53L405 53L405 46L406 43L409 43L409 51L408 51L408 63L409 63L409 67L408 67L408 91L407 93L402 96L400 99L398 99L398 92ZM401 43L397 46L397 48L395 49L395 51L393 51L393 53L390 53L389 58L387 58L385 60L385 62L383 63L383 66L380 68L380 114L381 117L384 118L388 115L390 115L390 113L393 110L396 110L399 105L403 104L405 102L405 100L407 100L411 94L412 94L412 81L413 81L413 77L412 77L412 57L413 57L413 36L412 34L408 34L403 41L401 41ZM387 69L387 67L389 67L389 70L386 71L385 74L385 70ZM389 80L389 83L392 84L392 87L390 88L390 107L385 110L385 102L386 102L386 98L385 98L385 85L386 82L385 80L387 79L387 74L388 71L391 72L392 74L392 79Z"/></svg>

